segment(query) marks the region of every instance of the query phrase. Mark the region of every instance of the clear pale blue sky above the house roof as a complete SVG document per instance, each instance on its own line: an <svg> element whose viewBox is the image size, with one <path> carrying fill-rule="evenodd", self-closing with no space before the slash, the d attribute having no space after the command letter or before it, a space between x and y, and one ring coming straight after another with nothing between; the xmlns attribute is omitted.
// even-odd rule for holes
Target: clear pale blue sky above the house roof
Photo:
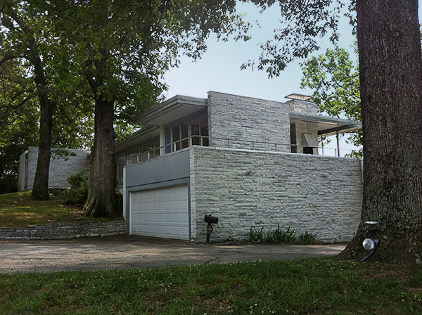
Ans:
<svg viewBox="0 0 422 315"><path fill-rule="evenodd" d="M193 62L182 58L179 68L174 68L165 74L165 82L169 86L166 95L170 98L176 94L207 98L207 91L219 91L228 94L264 98L271 101L286 101L284 96L292 93L311 95L312 91L300 89L302 70L297 60L281 72L279 77L269 79L264 70L240 70L242 63L257 60L260 56L259 43L271 39L273 30L279 27L279 8L273 6L260 14L255 6L242 4L238 11L245 13L248 20L258 20L259 27L252 28L250 41L217 41L215 37L207 40L207 51L200 60ZM421 8L419 8L421 15ZM340 20L339 46L349 49L352 53L352 27L347 18ZM319 41L321 49L314 53L324 53L332 44L323 39ZM335 146L335 141L330 143ZM340 148L352 148L341 141Z"/></svg>

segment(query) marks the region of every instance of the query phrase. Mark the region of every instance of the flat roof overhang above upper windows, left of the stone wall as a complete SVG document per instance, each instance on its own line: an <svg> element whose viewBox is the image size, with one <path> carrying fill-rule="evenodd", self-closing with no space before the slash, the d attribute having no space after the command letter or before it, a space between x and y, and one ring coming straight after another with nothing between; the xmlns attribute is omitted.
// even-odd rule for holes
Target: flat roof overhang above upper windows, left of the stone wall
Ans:
<svg viewBox="0 0 422 315"><path fill-rule="evenodd" d="M135 124L165 125L207 108L207 98L177 95L134 118Z"/></svg>

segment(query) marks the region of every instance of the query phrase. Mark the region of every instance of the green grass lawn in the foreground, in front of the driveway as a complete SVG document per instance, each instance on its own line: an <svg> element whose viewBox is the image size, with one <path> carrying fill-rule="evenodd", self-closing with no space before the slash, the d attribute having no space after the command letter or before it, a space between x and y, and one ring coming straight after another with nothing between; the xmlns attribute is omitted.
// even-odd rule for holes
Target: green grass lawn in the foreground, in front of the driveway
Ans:
<svg viewBox="0 0 422 315"><path fill-rule="evenodd" d="M0 275L0 314L422 314L422 269L319 258Z"/></svg>

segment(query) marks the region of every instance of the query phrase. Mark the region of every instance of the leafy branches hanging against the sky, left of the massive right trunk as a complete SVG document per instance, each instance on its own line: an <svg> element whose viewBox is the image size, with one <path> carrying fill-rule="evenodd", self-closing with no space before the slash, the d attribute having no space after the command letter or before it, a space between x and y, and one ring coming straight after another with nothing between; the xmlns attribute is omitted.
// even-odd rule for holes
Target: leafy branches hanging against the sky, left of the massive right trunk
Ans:
<svg viewBox="0 0 422 315"><path fill-rule="evenodd" d="M269 77L279 76L293 60L308 58L309 53L319 49L318 38L328 37L336 43L341 15L346 15L354 24L354 1L252 0L252 3L262 10L279 6L280 27L274 30L272 39L260 44L259 61L248 61L241 67L266 70Z"/></svg>

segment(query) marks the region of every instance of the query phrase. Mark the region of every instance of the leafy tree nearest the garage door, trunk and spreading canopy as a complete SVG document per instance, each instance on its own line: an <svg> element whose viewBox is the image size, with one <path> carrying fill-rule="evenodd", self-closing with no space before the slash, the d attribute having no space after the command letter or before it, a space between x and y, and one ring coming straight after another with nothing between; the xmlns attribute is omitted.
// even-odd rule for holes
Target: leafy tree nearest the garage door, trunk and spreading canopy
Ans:
<svg viewBox="0 0 422 315"><path fill-rule="evenodd" d="M210 32L231 33L241 20L234 1L49 1L57 36L95 102L87 215L113 217L115 171L113 121L158 101L162 74L182 52L198 58ZM242 30L242 27L241 27Z"/></svg>

